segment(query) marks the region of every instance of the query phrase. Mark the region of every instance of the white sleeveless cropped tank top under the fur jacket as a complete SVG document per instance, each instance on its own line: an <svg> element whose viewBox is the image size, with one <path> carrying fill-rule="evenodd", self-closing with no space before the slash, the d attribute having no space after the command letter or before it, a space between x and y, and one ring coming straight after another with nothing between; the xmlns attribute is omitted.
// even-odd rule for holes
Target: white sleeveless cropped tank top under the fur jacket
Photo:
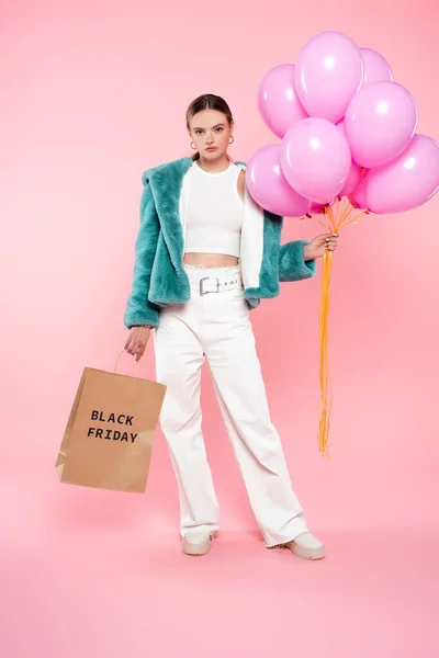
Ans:
<svg viewBox="0 0 439 658"><path fill-rule="evenodd" d="M219 173L196 160L183 179L185 251L239 257L244 204L238 192L240 168L230 162Z"/></svg>

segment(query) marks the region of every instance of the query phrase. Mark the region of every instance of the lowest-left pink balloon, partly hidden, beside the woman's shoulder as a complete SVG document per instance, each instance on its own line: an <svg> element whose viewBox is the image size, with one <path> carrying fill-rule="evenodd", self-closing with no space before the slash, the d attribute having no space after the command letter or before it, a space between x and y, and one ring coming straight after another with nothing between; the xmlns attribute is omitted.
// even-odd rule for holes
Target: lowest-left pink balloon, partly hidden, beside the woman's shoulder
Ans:
<svg viewBox="0 0 439 658"><path fill-rule="evenodd" d="M302 217L309 212L311 201L288 183L280 166L281 146L259 149L247 166L247 188L256 203L282 217Z"/></svg>

